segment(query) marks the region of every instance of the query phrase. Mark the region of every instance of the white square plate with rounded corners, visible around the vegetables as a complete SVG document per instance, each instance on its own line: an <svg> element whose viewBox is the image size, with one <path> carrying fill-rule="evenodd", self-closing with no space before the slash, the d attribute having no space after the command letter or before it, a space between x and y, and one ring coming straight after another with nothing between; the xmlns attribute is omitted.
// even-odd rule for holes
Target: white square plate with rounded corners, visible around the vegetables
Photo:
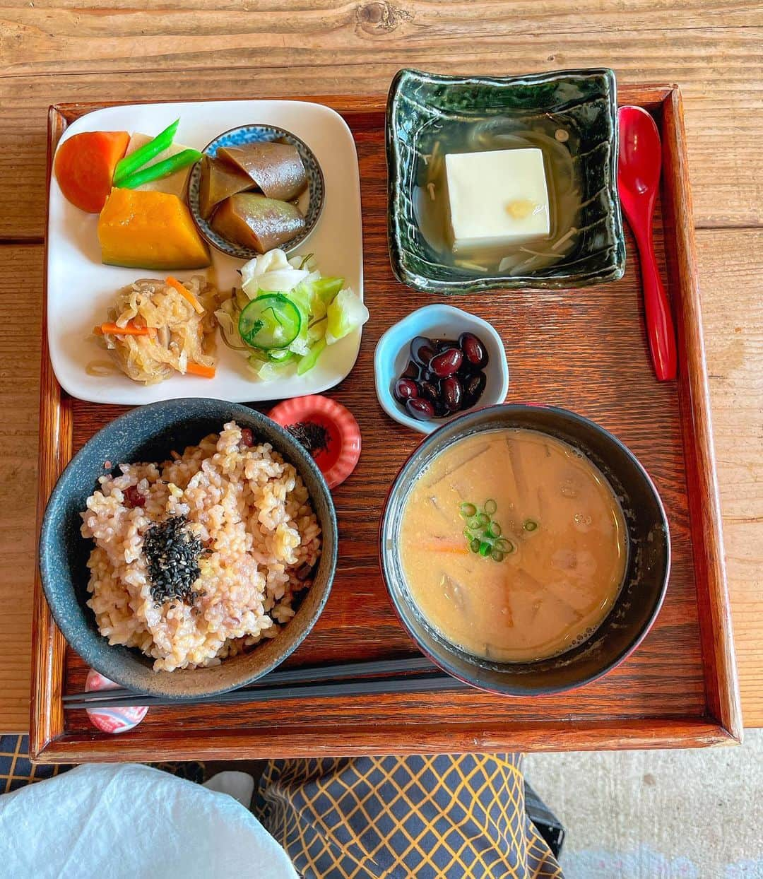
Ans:
<svg viewBox="0 0 763 879"><path fill-rule="evenodd" d="M176 141L203 149L229 128L266 123L301 137L316 154L325 179L323 214L316 229L298 249L315 253L324 275L341 275L345 285L363 297L363 254L360 221L360 174L355 142L345 120L322 104L304 101L206 101L178 104L134 104L106 107L73 122L61 142L83 131L140 131L158 134L180 118ZM138 278L163 277L150 269L103 265L98 246L98 214L85 214L64 199L50 182L47 214L47 338L56 378L70 395L95 403L140 405L185 396L210 396L234 403L316 394L332 388L350 372L360 349L360 330L328 347L306 375L287 374L258 381L243 357L217 338L214 379L176 375L145 387L123 374L100 378L87 374L93 360L108 355L92 337L105 320L114 294ZM218 289L239 280L243 263L212 251L208 269L173 272L180 280L206 273ZM294 254L292 254L294 256Z"/></svg>

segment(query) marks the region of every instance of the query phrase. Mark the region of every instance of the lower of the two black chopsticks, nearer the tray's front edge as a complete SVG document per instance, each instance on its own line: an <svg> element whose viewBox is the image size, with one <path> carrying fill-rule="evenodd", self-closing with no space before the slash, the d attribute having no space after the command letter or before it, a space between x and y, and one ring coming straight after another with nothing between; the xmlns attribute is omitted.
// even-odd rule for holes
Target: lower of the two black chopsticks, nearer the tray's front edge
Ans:
<svg viewBox="0 0 763 879"><path fill-rule="evenodd" d="M164 696L132 694L118 701L83 700L80 696L69 697L66 708L124 708L133 705L189 705L208 704L233 705L242 703L270 702L287 699L321 699L338 696L367 696L391 693L436 693L443 690L462 690L469 686L449 674L435 672L430 674L409 674L398 678L367 678L361 680L339 680L330 683L303 683L299 686L260 686L231 690L217 696L204 696L194 700L167 699ZM113 690L110 692L114 692Z"/></svg>

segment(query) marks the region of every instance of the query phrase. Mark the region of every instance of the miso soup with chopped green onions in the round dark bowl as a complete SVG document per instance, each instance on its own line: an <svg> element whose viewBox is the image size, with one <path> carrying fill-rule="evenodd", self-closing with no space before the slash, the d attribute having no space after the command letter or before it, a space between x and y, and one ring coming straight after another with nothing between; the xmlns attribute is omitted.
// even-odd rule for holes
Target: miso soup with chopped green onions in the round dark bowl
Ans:
<svg viewBox="0 0 763 879"><path fill-rule="evenodd" d="M590 636L628 558L614 490L559 439L501 429L438 454L406 498L403 573L421 614L469 653L553 657Z"/></svg>

